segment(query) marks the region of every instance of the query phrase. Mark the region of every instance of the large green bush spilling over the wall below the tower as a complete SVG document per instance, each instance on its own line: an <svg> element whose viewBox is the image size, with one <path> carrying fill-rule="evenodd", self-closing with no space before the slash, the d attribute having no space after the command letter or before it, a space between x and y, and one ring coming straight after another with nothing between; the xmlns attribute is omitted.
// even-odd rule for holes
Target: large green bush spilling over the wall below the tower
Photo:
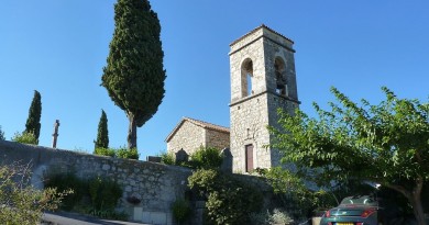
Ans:
<svg viewBox="0 0 429 225"><path fill-rule="evenodd" d="M262 206L262 193L250 182L217 170L197 170L189 187L207 198L207 214L215 224L249 224L249 215Z"/></svg>

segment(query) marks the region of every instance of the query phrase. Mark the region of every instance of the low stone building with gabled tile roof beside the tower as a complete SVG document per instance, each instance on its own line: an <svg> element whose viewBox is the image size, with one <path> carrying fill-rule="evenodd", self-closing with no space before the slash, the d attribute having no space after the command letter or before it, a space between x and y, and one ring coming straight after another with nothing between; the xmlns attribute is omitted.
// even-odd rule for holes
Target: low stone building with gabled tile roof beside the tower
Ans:
<svg viewBox="0 0 429 225"><path fill-rule="evenodd" d="M191 155L201 146L221 150L230 145L230 132L223 126L184 117L165 142L168 153L184 149L188 155Z"/></svg>

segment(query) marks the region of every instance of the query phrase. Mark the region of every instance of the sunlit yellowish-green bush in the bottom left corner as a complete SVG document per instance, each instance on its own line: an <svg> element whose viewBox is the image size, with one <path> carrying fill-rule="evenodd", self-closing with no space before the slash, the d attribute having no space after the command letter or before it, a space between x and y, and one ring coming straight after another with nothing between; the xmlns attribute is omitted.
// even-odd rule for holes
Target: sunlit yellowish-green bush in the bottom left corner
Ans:
<svg viewBox="0 0 429 225"><path fill-rule="evenodd" d="M36 190L30 169L18 164L0 166L0 221L3 224L37 224L44 211L54 211L70 191Z"/></svg>

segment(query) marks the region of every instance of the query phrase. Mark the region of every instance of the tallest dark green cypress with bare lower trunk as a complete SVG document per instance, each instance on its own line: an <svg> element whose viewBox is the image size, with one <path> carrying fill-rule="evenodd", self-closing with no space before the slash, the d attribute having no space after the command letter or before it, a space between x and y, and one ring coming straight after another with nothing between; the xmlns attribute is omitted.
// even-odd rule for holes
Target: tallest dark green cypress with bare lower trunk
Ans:
<svg viewBox="0 0 429 225"><path fill-rule="evenodd" d="M147 0L118 0L114 33L102 83L129 119L128 148L136 148L136 127L157 111L166 78L161 24Z"/></svg>

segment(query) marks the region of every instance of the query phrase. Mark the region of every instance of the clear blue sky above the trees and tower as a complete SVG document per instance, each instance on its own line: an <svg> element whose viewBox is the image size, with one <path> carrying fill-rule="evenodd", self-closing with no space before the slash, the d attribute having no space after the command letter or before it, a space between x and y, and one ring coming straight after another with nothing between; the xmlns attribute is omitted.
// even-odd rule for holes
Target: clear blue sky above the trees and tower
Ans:
<svg viewBox="0 0 429 225"><path fill-rule="evenodd" d="M42 94L40 145L91 153L103 109L111 147L127 144L128 120L100 87L114 29L114 0L2 0L0 125L22 132ZM428 101L429 1L157 0L167 71L158 112L138 130L141 159L166 149L183 116L229 126L229 44L262 23L295 41L300 109L326 105L337 87L353 100Z"/></svg>

